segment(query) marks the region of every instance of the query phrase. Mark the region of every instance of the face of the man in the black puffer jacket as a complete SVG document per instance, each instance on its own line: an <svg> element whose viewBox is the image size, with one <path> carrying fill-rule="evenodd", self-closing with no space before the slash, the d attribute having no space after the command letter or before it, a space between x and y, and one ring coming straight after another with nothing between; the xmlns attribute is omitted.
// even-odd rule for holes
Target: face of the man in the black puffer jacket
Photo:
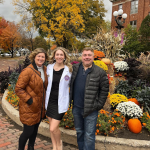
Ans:
<svg viewBox="0 0 150 150"><path fill-rule="evenodd" d="M83 66L89 67L92 65L92 62L94 60L94 53L91 52L90 50L84 50L82 52L82 63Z"/></svg>

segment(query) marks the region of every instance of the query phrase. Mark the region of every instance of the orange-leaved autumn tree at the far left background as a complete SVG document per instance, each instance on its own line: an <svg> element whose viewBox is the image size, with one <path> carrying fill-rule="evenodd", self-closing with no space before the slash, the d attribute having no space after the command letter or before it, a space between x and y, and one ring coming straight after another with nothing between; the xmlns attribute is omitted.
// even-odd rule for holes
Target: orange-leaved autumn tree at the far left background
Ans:
<svg viewBox="0 0 150 150"><path fill-rule="evenodd" d="M0 43L4 50L8 50L13 57L15 48L19 47L20 34L18 32L18 25L14 22L9 22L8 26L2 30L0 35Z"/></svg>

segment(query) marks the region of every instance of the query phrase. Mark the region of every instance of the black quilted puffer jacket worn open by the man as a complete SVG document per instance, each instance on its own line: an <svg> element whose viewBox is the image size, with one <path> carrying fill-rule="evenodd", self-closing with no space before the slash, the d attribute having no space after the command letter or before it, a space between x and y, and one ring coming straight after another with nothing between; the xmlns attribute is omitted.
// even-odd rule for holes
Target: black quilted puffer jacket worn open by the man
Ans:
<svg viewBox="0 0 150 150"><path fill-rule="evenodd" d="M73 100L73 94L75 94L73 93L73 84L80 64L81 63L73 65L73 72L70 81L70 103ZM106 72L93 63L92 69L86 78L83 117L88 116L95 110L102 109L106 102L108 92L109 81Z"/></svg>

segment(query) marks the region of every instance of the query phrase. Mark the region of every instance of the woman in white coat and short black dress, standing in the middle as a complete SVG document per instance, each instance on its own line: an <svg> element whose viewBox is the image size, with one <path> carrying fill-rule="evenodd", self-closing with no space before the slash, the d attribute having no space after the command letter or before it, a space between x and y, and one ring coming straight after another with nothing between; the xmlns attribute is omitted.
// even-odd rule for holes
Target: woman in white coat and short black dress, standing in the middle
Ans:
<svg viewBox="0 0 150 150"><path fill-rule="evenodd" d="M59 123L69 107L69 82L72 65L66 50L57 47L50 56L47 66L48 86L45 108L47 110L53 150L62 150Z"/></svg>

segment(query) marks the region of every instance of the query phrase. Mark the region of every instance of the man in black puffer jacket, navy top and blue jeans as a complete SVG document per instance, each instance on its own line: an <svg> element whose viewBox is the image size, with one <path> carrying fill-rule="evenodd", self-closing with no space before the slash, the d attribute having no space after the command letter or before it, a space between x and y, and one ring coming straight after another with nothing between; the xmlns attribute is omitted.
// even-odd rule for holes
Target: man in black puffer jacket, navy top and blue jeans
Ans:
<svg viewBox="0 0 150 150"><path fill-rule="evenodd" d="M93 50L84 48L82 62L73 66L70 82L70 103L73 100L79 150L95 150L98 111L103 108L109 92L107 75L93 60Z"/></svg>

